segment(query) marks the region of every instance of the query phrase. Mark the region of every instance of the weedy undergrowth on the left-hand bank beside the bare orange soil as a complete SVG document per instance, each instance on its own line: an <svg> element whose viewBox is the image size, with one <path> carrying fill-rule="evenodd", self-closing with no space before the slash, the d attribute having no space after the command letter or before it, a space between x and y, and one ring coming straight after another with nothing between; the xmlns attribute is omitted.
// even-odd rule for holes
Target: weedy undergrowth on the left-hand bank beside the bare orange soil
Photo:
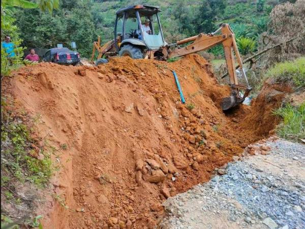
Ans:
<svg viewBox="0 0 305 229"><path fill-rule="evenodd" d="M20 188L32 190L33 187L43 188L48 183L55 167L51 161L52 148L44 145L38 147L38 139L33 138L35 120L31 120L24 111L15 112L11 100L2 97L1 100L1 192L5 206L15 206L16 209L33 210L33 204L27 196L20 194ZM33 187L32 187L33 186ZM35 195L35 193L31 193ZM38 196L35 196L38 198ZM30 198L31 199L31 198ZM1 207L2 222L11 223L8 217L18 218L24 214L22 210ZM19 207L18 207L19 206ZM22 216L17 224L37 227L41 216L35 218ZM12 219L13 220L13 219ZM16 227L17 228L17 227Z"/></svg>

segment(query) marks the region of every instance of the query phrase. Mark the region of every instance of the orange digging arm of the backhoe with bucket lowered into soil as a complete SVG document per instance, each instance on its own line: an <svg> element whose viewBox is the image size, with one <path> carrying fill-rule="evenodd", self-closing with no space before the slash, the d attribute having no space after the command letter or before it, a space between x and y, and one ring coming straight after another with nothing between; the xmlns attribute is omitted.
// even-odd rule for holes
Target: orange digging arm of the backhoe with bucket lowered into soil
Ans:
<svg viewBox="0 0 305 229"><path fill-rule="evenodd" d="M216 35L217 33L221 32L220 35ZM230 26L228 24L222 24L221 27L215 31L212 34L199 34L194 37L186 38L180 41L177 41L172 45L181 45L185 43L189 43L185 47L182 48L176 48L175 50L171 51L168 49L168 57L173 58L173 57L178 57L178 56L184 56L187 54L207 50L215 45L222 44L224 47L224 53L225 53L225 58L226 58L226 63L227 63L227 69L228 69L228 74L230 77L230 87L231 87L231 95L230 97L226 97L222 101L222 109L227 110L231 107L234 107L245 100L245 98L249 95L249 92L252 90L248 83L248 79L245 73L245 70L243 69L242 66L242 61L240 58L240 54L236 45L236 41L234 38L234 33L232 32ZM246 85L245 84L239 84L236 76L236 71L235 71L235 57L233 54L233 51L235 53L237 62L239 64L239 68L241 71L241 74L243 78L245 79ZM244 90L245 93L243 96L240 95L239 90Z"/></svg>

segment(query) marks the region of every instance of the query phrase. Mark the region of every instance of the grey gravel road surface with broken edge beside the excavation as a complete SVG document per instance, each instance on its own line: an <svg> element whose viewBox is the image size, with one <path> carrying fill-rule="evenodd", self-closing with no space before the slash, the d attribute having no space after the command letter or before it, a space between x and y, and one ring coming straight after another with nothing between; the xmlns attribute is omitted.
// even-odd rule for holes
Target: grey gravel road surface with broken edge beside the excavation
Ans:
<svg viewBox="0 0 305 229"><path fill-rule="evenodd" d="M253 147L256 155L217 169L225 175L168 198L159 226L305 228L305 146L269 139Z"/></svg>

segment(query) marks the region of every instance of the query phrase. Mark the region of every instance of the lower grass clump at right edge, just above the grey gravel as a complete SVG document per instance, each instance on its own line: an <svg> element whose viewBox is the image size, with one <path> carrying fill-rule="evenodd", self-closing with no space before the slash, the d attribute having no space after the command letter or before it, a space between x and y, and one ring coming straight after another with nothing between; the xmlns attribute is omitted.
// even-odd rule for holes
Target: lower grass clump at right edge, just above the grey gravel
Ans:
<svg viewBox="0 0 305 229"><path fill-rule="evenodd" d="M276 129L280 137L292 141L305 138L305 102L297 107L287 104L273 113L283 118Z"/></svg>

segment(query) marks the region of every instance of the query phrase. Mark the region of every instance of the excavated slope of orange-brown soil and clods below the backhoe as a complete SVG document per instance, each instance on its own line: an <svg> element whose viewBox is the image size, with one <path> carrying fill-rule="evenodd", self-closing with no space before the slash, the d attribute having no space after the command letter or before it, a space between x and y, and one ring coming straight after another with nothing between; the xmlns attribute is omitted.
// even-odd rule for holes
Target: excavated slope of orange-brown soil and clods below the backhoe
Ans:
<svg viewBox="0 0 305 229"><path fill-rule="evenodd" d="M60 152L51 192L64 203L52 199L39 210L44 228L156 226L167 197L208 181L216 167L272 132L278 120L271 110L285 95L265 84L251 107L225 114L219 103L230 90L197 54L174 63L41 63L16 72L9 91L32 116L41 115L38 137Z"/></svg>

